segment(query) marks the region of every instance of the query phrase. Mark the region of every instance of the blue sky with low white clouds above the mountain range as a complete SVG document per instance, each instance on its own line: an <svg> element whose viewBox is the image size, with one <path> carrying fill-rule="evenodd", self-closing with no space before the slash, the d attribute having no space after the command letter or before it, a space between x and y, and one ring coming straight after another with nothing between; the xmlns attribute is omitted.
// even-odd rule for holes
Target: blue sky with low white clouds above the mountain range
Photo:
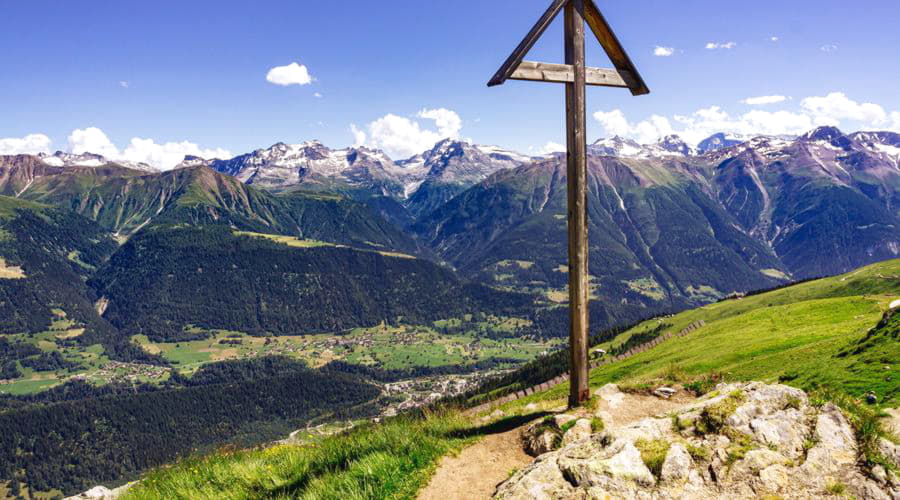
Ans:
<svg viewBox="0 0 900 500"><path fill-rule="evenodd" d="M548 4L5 2L0 153L91 149L168 168L185 152L362 134L395 157L442 136L537 153L563 142L562 86L485 83ZM896 1L598 5L652 93L590 88L591 140L900 129ZM528 58L561 62L561 31ZM595 44L588 56L609 66ZM291 63L311 82L267 81Z"/></svg>

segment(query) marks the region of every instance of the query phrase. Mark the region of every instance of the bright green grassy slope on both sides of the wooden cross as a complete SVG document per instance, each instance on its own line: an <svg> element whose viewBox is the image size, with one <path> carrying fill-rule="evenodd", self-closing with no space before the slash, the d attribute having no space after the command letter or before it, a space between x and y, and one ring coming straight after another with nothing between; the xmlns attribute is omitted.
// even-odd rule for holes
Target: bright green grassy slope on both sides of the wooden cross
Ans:
<svg viewBox="0 0 900 500"><path fill-rule="evenodd" d="M879 322L886 304L898 296L900 260L893 260L686 311L665 321L675 331L699 319L706 326L594 370L591 385L636 383L673 371L688 377L723 372L734 379L782 379L804 388L836 386L851 395L875 390L882 404L896 405L900 315L877 334L867 333ZM656 324L652 320L638 325L606 347ZM533 401L564 404L566 391L565 384L559 385L504 409L517 414ZM394 420L325 438L316 446L279 446L187 460L152 473L127 498L412 498L437 458L466 444L454 431L468 427L468 435L478 434L471 422L453 415Z"/></svg>

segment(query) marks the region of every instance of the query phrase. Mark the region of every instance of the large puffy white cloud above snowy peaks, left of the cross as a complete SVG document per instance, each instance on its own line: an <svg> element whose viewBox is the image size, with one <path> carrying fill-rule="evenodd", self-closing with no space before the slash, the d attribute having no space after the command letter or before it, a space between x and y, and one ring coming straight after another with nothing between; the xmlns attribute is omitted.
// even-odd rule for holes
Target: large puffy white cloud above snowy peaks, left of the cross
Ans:
<svg viewBox="0 0 900 500"><path fill-rule="evenodd" d="M354 144L383 149L391 156L403 158L421 153L442 139L458 138L462 130L462 119L449 109L423 109L415 117L433 120L437 130L423 128L418 120L389 113L369 123L365 131L351 125Z"/></svg>

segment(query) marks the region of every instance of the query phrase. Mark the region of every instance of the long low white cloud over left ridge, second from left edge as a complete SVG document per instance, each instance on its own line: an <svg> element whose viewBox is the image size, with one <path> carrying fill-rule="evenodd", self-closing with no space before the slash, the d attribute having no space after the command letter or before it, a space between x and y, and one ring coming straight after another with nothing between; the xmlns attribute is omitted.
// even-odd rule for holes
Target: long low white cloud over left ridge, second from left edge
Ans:
<svg viewBox="0 0 900 500"><path fill-rule="evenodd" d="M109 137L97 127L75 129L69 135L69 151L75 154L94 153L109 160L126 160L146 163L159 170L169 170L184 159L185 155L201 158L231 158L226 149L204 149L188 141L157 144L153 139L135 137L124 151L119 151Z"/></svg>

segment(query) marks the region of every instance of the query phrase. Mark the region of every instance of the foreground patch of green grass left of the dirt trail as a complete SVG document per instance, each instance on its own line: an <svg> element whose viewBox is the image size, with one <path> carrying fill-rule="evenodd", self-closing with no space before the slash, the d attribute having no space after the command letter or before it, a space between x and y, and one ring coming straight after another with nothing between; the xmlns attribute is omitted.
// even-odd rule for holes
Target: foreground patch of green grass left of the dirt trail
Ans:
<svg viewBox="0 0 900 500"><path fill-rule="evenodd" d="M472 442L446 413L363 425L308 445L219 452L151 472L123 500L411 498L442 455Z"/></svg>

